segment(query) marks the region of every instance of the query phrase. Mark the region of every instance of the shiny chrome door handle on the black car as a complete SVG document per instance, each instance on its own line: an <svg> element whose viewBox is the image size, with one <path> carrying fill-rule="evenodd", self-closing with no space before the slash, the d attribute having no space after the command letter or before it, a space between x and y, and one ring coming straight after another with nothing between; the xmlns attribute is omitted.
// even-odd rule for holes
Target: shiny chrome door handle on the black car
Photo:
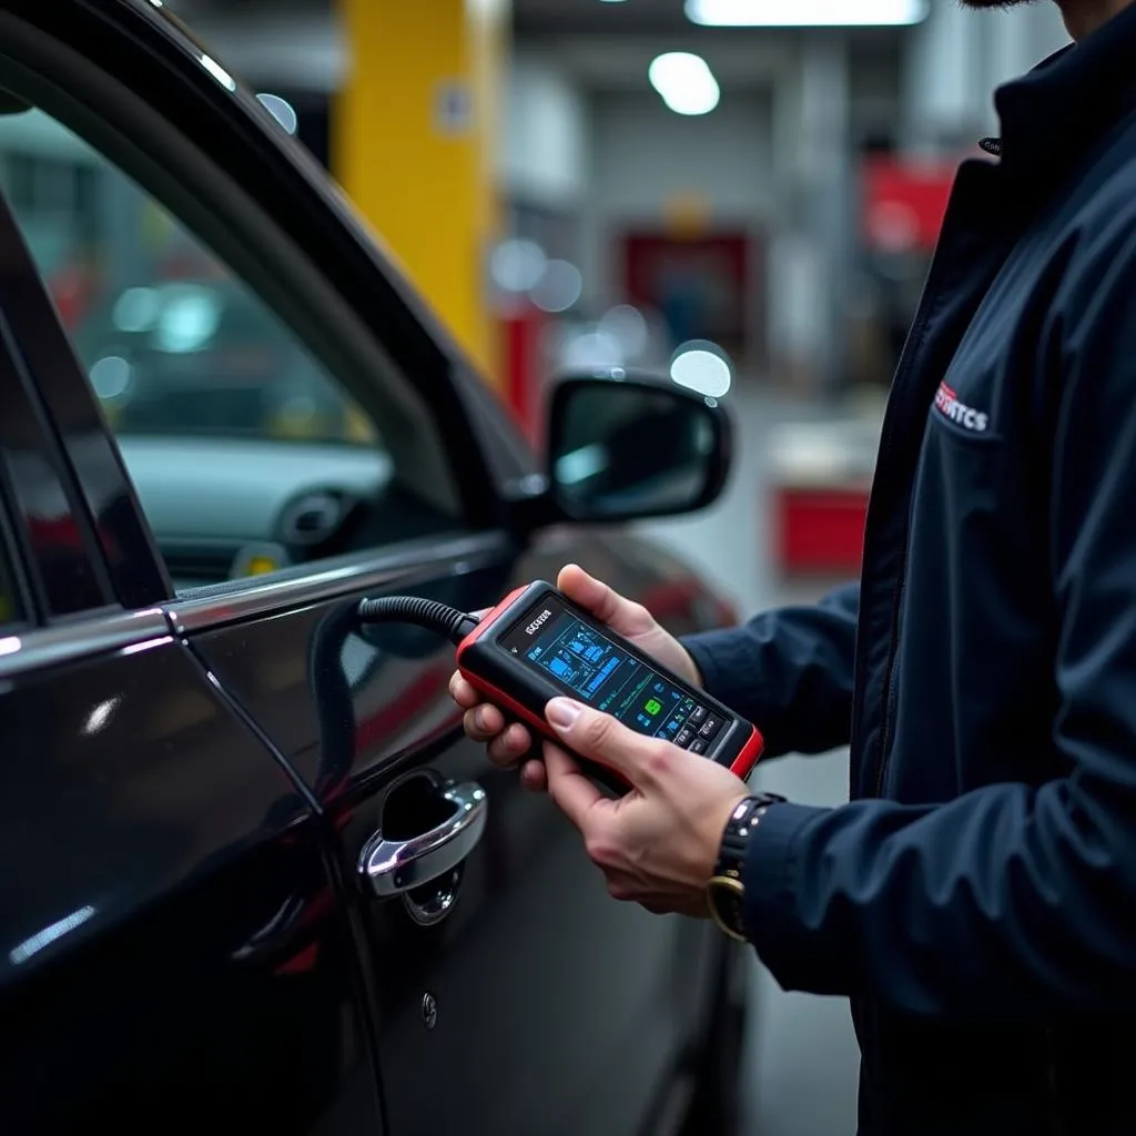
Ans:
<svg viewBox="0 0 1136 1136"><path fill-rule="evenodd" d="M485 830L488 799L477 782L438 787L453 810L429 830L404 841L377 832L359 854L359 874L378 896L399 895L453 871L477 846Z"/></svg>

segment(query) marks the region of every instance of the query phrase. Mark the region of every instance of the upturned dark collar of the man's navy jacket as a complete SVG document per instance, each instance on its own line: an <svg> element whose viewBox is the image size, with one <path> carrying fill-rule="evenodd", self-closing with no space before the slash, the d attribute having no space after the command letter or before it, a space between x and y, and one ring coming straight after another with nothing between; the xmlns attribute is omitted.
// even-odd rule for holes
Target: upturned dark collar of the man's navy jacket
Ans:
<svg viewBox="0 0 1136 1136"><path fill-rule="evenodd" d="M999 87L996 148L1008 174L1049 181L1126 112L1136 109L1136 2L1077 44L1062 48L1021 78Z"/></svg>

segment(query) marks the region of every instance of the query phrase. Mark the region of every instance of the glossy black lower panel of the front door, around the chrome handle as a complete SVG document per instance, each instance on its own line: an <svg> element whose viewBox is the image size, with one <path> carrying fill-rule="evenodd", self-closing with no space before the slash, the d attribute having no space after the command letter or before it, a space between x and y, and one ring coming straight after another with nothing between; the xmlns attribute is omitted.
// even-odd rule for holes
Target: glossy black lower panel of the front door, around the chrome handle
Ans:
<svg viewBox="0 0 1136 1136"><path fill-rule="evenodd" d="M612 903L546 800L460 738L452 646L408 627L357 628L364 596L411 593L475 610L532 566L515 565L506 541L475 536L428 562L359 561L346 585L335 568L325 584L317 573L243 600L175 607L182 634L339 833L399 1134L637 1131L710 997L700 988L711 974L704 929ZM443 821L446 784L471 784L488 804L460 878L369 892L358 870L368 842ZM448 889L456 902L444 909Z"/></svg>

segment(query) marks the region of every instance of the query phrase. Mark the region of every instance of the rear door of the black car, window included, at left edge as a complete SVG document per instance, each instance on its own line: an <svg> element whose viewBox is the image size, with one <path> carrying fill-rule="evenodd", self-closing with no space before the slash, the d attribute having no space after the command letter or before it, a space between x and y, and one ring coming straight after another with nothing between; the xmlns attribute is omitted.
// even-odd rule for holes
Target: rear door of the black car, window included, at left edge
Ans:
<svg viewBox="0 0 1136 1136"><path fill-rule="evenodd" d="M318 810L119 599L160 565L103 551L144 525L120 471L97 511L74 481L109 451L32 379L61 341L2 201L0 249L0 1129L378 1131Z"/></svg>

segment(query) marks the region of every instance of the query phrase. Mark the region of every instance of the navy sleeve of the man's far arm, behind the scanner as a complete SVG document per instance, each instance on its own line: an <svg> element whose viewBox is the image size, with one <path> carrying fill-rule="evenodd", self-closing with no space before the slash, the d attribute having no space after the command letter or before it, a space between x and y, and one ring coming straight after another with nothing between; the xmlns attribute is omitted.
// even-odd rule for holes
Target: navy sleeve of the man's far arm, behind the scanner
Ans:
<svg viewBox="0 0 1136 1136"><path fill-rule="evenodd" d="M860 586L817 604L780 608L742 627L683 640L707 691L749 718L766 754L847 745Z"/></svg>

